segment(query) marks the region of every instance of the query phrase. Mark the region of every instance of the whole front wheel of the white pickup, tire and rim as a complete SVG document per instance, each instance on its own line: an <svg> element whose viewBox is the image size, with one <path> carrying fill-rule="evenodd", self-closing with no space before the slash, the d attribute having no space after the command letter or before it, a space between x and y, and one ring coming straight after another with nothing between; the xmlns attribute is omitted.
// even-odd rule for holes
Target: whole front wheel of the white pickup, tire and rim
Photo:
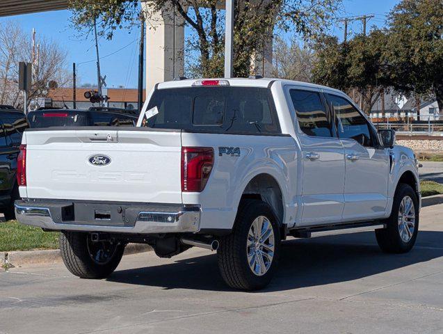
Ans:
<svg viewBox="0 0 443 334"><path fill-rule="evenodd" d="M399 184L387 228L376 230L378 246L386 253L406 253L412 249L419 231L419 206L414 190Z"/></svg>

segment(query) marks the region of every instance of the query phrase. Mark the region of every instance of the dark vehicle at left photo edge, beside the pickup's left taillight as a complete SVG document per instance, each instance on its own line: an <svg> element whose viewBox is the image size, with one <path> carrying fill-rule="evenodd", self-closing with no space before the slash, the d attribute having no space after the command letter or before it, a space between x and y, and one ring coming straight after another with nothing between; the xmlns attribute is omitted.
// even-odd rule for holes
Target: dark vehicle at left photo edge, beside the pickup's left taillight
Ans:
<svg viewBox="0 0 443 334"><path fill-rule="evenodd" d="M19 199L17 156L26 128L28 123L22 111L0 109L0 212L6 220L15 218L14 201Z"/></svg>

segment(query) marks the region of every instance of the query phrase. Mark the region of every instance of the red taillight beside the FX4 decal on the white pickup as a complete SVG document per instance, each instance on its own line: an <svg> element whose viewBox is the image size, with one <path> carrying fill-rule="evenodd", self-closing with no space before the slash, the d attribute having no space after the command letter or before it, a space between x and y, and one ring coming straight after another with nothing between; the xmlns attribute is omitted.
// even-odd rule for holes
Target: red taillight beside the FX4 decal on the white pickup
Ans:
<svg viewBox="0 0 443 334"><path fill-rule="evenodd" d="M203 191L212 166L212 148L182 148L182 191Z"/></svg>

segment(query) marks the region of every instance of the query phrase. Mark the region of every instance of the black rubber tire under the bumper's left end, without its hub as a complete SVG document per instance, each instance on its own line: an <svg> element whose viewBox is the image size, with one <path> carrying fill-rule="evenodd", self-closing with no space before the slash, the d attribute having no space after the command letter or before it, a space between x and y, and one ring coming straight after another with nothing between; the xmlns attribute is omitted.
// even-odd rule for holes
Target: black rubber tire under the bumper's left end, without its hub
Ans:
<svg viewBox="0 0 443 334"><path fill-rule="evenodd" d="M66 268L79 278L106 278L122 260L124 244L116 244L109 260L106 263L98 263L90 255L88 237L89 234L84 232L61 232L59 243L63 262Z"/></svg>

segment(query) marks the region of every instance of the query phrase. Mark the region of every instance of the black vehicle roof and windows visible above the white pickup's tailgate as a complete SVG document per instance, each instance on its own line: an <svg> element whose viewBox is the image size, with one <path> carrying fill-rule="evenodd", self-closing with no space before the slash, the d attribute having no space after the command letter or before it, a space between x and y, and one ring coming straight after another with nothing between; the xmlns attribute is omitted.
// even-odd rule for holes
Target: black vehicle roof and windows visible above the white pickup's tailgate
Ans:
<svg viewBox="0 0 443 334"><path fill-rule="evenodd" d="M35 127L134 127L137 116L118 110L39 109L28 113L31 128Z"/></svg>

